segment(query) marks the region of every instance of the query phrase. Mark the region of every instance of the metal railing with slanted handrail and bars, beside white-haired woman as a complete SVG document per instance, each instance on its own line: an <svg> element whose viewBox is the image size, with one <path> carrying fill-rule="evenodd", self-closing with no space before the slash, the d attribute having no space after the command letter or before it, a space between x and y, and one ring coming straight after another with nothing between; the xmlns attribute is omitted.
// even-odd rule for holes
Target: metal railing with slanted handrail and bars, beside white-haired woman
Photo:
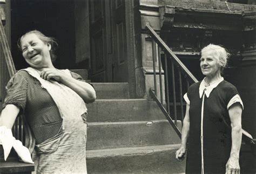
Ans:
<svg viewBox="0 0 256 174"><path fill-rule="evenodd" d="M177 102L176 102L176 87L175 87L175 81L174 81L174 65L179 69L179 90L182 91L182 84L181 84L181 73L184 74L187 81L187 88L190 83L198 82L198 80L193 76L193 74L187 69L187 67L179 60L179 58L171 51L171 49L165 44L165 42L158 36L158 34L152 29L152 27L149 25L149 23L146 24L146 29L149 31L150 36L152 37L152 53L153 53L153 76L154 76L154 90L150 89L150 95L152 98L157 102L157 105L161 109L161 111L164 113L166 119L171 124L172 128L176 131L177 135L181 138L181 132L177 127ZM165 59L165 82L166 82L166 108L164 108L163 104L163 90L162 90L162 79L161 79L161 51L163 51L164 59ZM158 67L159 67L159 82L160 82L160 101L157 98L157 82L156 82L156 59L158 57ZM170 101L169 101L169 80L168 80L168 69L167 69L167 58L171 59L171 74L172 74L172 94L173 94L173 110L174 110L174 120L171 117L170 114ZM181 109L181 115L183 112L183 101L182 101L182 95L180 92L179 95L180 98L180 109ZM181 116L183 118L183 116Z"/></svg>

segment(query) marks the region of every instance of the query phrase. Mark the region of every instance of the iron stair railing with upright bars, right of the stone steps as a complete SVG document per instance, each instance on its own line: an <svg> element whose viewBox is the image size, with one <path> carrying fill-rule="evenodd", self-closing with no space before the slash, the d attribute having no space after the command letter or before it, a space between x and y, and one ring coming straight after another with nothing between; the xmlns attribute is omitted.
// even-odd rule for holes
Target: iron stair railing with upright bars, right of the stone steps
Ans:
<svg viewBox="0 0 256 174"><path fill-rule="evenodd" d="M146 29L152 38L152 54L153 54L153 76L154 76L154 89L150 89L152 98L158 103L158 106L170 122L173 129L181 138L180 130L177 127L177 117L183 120L184 117L184 104L183 94L187 91L190 84L198 82L194 75L187 69L187 67L180 61L180 59L171 51L169 46L158 36L152 29L149 23L146 24ZM158 74L159 74L159 90L157 89L157 72L156 62L158 61ZM165 79L165 101L164 107L163 97L163 80L162 80L162 65L164 64L164 79ZM171 66L167 66L170 64ZM169 74L169 71L171 73ZM169 82L169 75L171 75L171 82ZM185 83L185 85L184 85ZM171 86L169 86L171 84ZM169 91L171 89L171 91ZM177 93L178 91L178 93ZM160 93L160 99L158 98ZM171 96L171 100L170 100ZM171 101L171 102L170 102ZM179 102L177 102L179 101ZM170 110L172 107L172 110ZM178 108L179 107L179 108ZM172 113L172 114L171 114ZM173 117L171 117L173 115Z"/></svg>

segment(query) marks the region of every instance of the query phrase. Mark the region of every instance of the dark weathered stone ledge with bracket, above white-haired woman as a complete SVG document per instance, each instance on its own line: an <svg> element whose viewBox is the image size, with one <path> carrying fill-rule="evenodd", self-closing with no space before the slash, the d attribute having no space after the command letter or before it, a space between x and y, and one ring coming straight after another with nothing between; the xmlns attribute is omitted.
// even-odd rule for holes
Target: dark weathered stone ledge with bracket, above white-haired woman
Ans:
<svg viewBox="0 0 256 174"><path fill-rule="evenodd" d="M161 27L242 30L242 12L160 6Z"/></svg>

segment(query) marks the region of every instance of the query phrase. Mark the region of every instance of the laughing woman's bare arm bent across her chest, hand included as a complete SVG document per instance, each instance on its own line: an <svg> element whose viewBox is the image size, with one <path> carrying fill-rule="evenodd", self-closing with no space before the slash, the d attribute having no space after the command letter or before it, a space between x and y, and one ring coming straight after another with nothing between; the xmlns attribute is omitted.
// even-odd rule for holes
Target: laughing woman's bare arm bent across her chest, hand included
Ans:
<svg viewBox="0 0 256 174"><path fill-rule="evenodd" d="M86 103L92 103L96 100L95 89L84 81L79 81L55 68L44 68L40 74L45 80L55 79L64 85L73 89Z"/></svg>

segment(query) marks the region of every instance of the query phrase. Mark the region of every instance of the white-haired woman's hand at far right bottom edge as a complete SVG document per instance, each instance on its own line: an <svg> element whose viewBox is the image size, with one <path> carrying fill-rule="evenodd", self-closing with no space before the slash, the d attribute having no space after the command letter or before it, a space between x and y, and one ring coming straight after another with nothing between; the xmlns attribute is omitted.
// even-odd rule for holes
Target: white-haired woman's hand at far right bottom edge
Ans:
<svg viewBox="0 0 256 174"><path fill-rule="evenodd" d="M238 155L232 154L227 161L226 164L226 174L239 174L240 166L239 166L239 157Z"/></svg>

